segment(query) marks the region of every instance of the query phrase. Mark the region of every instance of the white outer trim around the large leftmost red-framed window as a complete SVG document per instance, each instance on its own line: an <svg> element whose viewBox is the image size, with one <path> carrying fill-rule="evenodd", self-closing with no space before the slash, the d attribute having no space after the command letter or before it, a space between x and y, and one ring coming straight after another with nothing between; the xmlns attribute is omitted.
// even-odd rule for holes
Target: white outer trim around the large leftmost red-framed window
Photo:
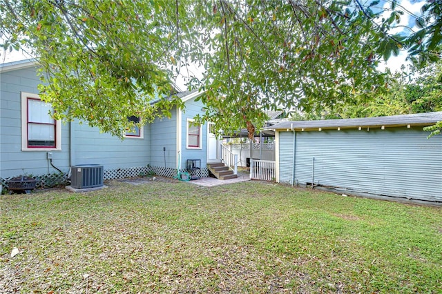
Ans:
<svg viewBox="0 0 442 294"><path fill-rule="evenodd" d="M55 121L55 148L28 147L28 98L40 99L37 94L21 92L21 150L22 151L60 151L61 150L61 121Z"/></svg>

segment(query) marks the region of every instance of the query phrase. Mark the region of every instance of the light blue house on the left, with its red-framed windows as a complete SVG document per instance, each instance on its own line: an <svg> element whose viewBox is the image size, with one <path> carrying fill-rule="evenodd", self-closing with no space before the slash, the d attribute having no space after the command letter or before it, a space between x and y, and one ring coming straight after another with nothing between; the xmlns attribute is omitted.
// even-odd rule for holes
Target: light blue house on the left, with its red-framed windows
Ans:
<svg viewBox="0 0 442 294"><path fill-rule="evenodd" d="M200 159L202 176L207 162L215 162L218 142L208 124L195 126L202 112L201 92L177 95L185 108L172 110L171 119L155 119L124 141L98 128L73 121L61 124L48 116L50 104L41 102L36 64L31 60L0 67L0 181L19 175L68 174L70 166L100 164L104 179L133 177L150 166L157 175L173 177L187 159ZM180 155L180 156L178 156Z"/></svg>

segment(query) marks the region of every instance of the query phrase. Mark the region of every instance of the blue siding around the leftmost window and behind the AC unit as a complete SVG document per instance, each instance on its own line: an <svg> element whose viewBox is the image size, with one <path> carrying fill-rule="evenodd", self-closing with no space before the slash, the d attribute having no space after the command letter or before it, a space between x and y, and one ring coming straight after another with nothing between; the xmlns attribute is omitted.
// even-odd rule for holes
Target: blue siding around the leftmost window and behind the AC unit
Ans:
<svg viewBox="0 0 442 294"><path fill-rule="evenodd" d="M21 92L38 94L36 68L2 72L0 75L0 177L56 173L47 151L21 150ZM99 133L86 124L61 124L61 151L52 152L52 163L65 173L70 166L70 125L73 126L72 164L102 164L104 169L146 166L149 163L150 126L144 126L144 139L124 141Z"/></svg>

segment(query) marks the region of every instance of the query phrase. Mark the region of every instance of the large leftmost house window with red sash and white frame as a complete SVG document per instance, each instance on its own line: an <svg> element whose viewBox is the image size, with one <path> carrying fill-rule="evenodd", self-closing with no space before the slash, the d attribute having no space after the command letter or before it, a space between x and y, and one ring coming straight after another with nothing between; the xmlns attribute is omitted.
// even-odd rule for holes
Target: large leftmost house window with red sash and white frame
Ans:
<svg viewBox="0 0 442 294"><path fill-rule="evenodd" d="M61 126L51 111L52 105L39 95L21 92L22 150L61 150Z"/></svg>

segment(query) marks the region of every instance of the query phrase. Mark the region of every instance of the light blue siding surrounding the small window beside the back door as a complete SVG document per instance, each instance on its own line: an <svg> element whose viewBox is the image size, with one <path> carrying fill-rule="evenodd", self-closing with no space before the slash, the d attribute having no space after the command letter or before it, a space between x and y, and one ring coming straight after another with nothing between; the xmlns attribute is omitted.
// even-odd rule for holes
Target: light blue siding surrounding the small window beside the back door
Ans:
<svg viewBox="0 0 442 294"><path fill-rule="evenodd" d="M187 141L186 141L186 135L187 135L187 119L193 119L198 114L201 114L201 108L204 105L202 104L202 101L195 101L194 99L190 99L189 101L186 101L186 109L184 110L182 114L182 168L185 168L186 166L186 160L187 159L201 159L201 167L206 167L206 161L207 161L207 124L202 125L201 127L201 136L202 136L202 148L201 149L191 149L187 148Z"/></svg>

